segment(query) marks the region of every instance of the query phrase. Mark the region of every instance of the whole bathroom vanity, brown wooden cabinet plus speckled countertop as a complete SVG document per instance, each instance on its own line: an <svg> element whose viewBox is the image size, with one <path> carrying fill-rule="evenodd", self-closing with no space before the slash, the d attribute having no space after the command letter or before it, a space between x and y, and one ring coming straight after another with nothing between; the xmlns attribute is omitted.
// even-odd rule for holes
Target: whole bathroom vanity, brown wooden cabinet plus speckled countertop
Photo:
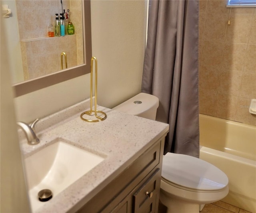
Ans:
<svg viewBox="0 0 256 213"><path fill-rule="evenodd" d="M52 199L32 212L157 213L169 125L104 107L97 109L107 114L106 120L88 123L80 119L88 108L87 99L40 119L36 126L40 143L35 146L20 136L24 158L56 138L104 158L66 189L53 192Z"/></svg>

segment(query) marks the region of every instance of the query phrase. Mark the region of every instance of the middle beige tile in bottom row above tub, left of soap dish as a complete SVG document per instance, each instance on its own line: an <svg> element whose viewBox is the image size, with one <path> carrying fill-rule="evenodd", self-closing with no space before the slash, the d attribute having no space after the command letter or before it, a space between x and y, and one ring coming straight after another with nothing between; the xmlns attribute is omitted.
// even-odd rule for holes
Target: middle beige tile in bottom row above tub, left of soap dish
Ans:
<svg viewBox="0 0 256 213"><path fill-rule="evenodd" d="M237 102L238 97L218 93L214 116L234 120Z"/></svg>

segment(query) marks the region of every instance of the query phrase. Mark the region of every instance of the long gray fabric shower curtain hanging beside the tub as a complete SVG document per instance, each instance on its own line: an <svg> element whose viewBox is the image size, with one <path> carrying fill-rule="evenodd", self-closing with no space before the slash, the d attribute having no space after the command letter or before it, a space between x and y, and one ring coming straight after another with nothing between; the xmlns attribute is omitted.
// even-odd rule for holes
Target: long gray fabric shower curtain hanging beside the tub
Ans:
<svg viewBox="0 0 256 213"><path fill-rule="evenodd" d="M198 0L152 0L142 92L159 98L170 125L164 154L199 157Z"/></svg>

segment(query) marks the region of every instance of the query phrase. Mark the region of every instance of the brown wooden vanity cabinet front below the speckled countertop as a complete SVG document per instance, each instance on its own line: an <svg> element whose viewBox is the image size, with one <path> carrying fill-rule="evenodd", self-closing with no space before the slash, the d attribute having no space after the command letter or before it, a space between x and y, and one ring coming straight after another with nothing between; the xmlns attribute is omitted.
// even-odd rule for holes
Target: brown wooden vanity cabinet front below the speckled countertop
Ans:
<svg viewBox="0 0 256 213"><path fill-rule="evenodd" d="M78 213L157 213L164 138L148 148Z"/></svg>

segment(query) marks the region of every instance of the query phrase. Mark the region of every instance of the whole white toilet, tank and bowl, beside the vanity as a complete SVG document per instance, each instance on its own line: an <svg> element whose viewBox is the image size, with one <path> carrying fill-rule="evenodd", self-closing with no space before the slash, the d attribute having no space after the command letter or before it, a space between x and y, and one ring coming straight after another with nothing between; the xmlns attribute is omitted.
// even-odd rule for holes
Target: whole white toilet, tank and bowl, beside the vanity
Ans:
<svg viewBox="0 0 256 213"><path fill-rule="evenodd" d="M158 105L157 97L140 93L113 110L155 120ZM160 201L167 213L198 213L227 194L228 177L216 166L188 155L164 155Z"/></svg>

